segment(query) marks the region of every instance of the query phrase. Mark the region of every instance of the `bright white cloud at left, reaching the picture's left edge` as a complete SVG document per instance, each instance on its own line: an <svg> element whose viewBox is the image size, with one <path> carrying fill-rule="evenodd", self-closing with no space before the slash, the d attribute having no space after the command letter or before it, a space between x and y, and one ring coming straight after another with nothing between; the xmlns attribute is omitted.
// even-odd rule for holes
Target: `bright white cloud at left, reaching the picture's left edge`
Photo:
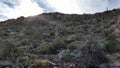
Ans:
<svg viewBox="0 0 120 68"><path fill-rule="evenodd" d="M10 8L7 5L0 3L0 14L7 16L8 18L33 16L42 12L43 9L31 0L20 0L20 4L15 8Z"/></svg>

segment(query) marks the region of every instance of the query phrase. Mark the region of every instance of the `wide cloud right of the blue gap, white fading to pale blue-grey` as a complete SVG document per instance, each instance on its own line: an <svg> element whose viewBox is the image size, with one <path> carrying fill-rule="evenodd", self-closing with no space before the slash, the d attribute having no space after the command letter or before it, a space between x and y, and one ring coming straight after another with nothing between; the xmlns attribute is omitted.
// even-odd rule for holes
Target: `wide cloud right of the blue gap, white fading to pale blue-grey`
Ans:
<svg viewBox="0 0 120 68"><path fill-rule="evenodd" d="M48 0L56 11L63 13L95 13L105 11L108 0Z"/></svg>

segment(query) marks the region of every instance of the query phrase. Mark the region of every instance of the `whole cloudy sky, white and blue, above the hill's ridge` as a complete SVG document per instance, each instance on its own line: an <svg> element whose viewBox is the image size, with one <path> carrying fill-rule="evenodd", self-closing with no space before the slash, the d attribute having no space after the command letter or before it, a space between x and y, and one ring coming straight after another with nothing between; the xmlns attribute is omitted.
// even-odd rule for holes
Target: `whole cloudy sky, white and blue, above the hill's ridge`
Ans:
<svg viewBox="0 0 120 68"><path fill-rule="evenodd" d="M0 0L0 21L41 13L93 14L120 8L120 0Z"/></svg>

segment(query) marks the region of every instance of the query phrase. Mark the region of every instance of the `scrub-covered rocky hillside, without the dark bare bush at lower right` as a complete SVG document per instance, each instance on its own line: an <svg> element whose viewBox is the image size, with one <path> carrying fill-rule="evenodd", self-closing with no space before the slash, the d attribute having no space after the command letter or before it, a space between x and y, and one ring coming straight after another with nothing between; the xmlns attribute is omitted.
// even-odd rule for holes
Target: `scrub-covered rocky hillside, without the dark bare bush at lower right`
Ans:
<svg viewBox="0 0 120 68"><path fill-rule="evenodd" d="M43 13L6 20L0 22L0 66L79 67L77 58L91 40L105 56L112 57L110 61L119 62L115 60L120 57L120 9L83 15Z"/></svg>

